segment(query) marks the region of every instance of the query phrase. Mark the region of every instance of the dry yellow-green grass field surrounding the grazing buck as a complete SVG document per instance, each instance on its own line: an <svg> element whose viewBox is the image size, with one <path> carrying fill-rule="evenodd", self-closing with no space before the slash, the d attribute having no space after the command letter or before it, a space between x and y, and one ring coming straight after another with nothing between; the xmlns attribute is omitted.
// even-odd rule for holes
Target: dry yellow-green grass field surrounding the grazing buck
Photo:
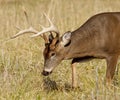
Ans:
<svg viewBox="0 0 120 100"><path fill-rule="evenodd" d="M43 12L62 35L77 29L92 15L111 11L120 11L120 0L0 0L0 100L119 100L120 74L115 75L114 88L106 88L105 60L77 64L79 88L72 89L71 60L61 62L44 77L43 39L26 34L9 40L18 32L16 26L25 29L32 25L39 31L40 24L48 26Z"/></svg>

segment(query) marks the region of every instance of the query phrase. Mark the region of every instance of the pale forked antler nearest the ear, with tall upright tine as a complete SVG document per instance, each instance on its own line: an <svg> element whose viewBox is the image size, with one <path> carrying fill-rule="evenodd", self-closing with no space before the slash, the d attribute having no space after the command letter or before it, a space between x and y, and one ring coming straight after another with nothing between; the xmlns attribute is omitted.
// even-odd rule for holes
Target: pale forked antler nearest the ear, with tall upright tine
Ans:
<svg viewBox="0 0 120 100"><path fill-rule="evenodd" d="M45 17L47 18L47 20L49 21L50 23L50 27L48 28L45 28L44 26L41 25L42 27L42 31L41 32L38 32L37 34L34 34L32 35L31 37L37 37L43 33L46 33L46 32L55 32L56 33L56 36L59 37L59 31L58 29L54 26L54 24L52 23L52 21L50 20L50 18L44 13Z"/></svg>

